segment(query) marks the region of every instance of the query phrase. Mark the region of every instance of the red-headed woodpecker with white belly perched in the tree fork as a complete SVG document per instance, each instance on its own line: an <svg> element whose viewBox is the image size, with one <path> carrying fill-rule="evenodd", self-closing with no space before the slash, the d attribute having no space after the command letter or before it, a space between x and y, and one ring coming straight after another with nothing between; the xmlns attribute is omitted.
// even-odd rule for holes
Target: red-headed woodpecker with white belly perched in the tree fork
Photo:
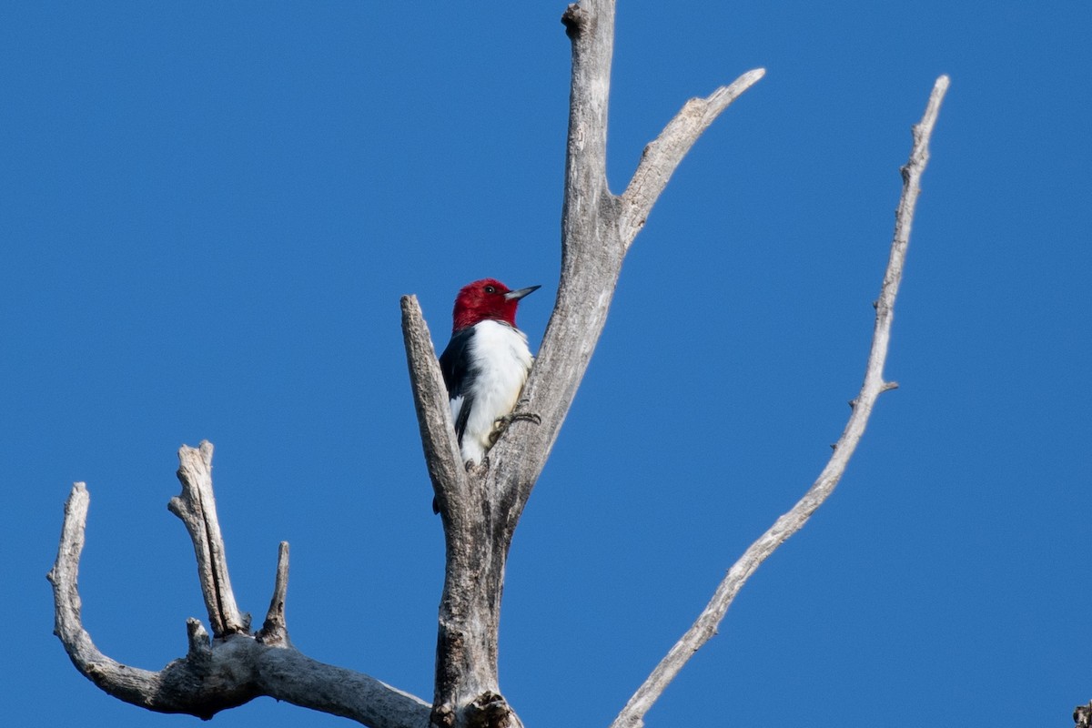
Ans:
<svg viewBox="0 0 1092 728"><path fill-rule="evenodd" d="M440 355L443 383L463 463L479 465L503 430L531 371L527 336L515 327L520 299L538 286L509 290L492 278L463 286L455 297L451 341Z"/></svg>

